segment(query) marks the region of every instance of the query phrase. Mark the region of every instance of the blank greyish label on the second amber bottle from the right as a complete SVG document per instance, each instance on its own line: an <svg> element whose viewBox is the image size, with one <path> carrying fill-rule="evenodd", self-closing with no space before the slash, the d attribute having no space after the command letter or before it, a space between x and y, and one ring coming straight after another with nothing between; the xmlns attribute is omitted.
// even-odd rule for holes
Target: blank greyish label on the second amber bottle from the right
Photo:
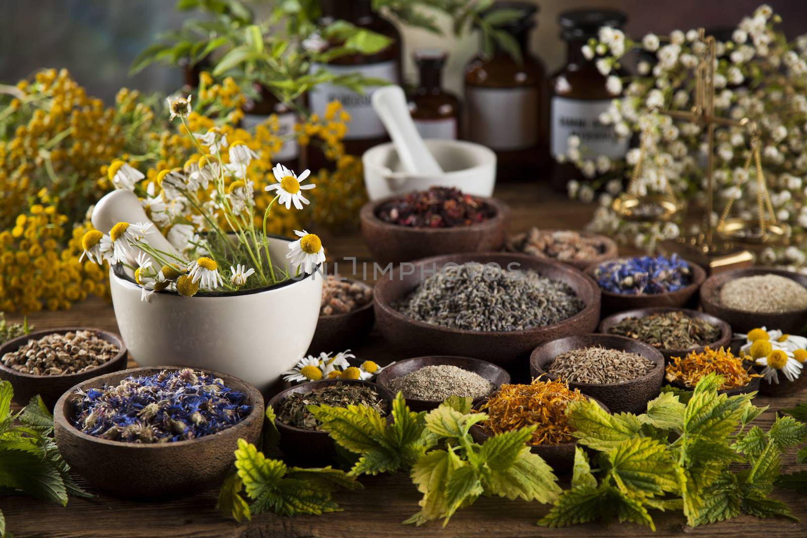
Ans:
<svg viewBox="0 0 807 538"><path fill-rule="evenodd" d="M469 140L497 150L538 143L538 89L466 88Z"/></svg>

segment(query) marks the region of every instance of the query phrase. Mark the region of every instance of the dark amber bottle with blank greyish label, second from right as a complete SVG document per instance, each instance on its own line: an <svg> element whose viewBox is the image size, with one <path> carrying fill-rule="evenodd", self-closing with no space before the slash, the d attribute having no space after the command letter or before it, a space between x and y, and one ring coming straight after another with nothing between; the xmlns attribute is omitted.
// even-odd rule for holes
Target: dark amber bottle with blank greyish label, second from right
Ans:
<svg viewBox="0 0 807 538"><path fill-rule="evenodd" d="M522 16L498 27L508 31L521 48L523 62L495 48L490 58L476 56L466 66L466 138L493 149L500 179L534 175L546 166L541 137L545 69L529 52L529 31L537 6L526 2L496 2L495 9L521 10Z"/></svg>

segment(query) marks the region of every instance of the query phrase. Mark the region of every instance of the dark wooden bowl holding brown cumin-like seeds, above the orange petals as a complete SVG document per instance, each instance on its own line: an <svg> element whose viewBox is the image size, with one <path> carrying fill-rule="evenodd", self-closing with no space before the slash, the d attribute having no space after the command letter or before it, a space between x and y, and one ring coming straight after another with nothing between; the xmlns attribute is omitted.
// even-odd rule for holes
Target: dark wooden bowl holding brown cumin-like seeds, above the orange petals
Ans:
<svg viewBox="0 0 807 538"><path fill-rule="evenodd" d="M636 353L655 363L655 368L642 377L622 383L575 383L569 388L603 402L613 413L641 414L647 411L647 402L659 395L664 381L664 357L658 349L632 338L612 335L568 336L538 346L529 357L529 370L533 377L545 375L555 380L558 376L547 373L549 365L561 353L579 348L601 345L608 349Z"/></svg>

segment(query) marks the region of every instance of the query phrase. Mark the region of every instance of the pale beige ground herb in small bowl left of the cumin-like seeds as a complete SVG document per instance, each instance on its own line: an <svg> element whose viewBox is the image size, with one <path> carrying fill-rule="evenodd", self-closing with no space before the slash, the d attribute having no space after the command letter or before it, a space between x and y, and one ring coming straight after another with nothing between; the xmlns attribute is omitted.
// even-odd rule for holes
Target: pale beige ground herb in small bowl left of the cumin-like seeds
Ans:
<svg viewBox="0 0 807 538"><path fill-rule="evenodd" d="M442 401L449 396L479 398L495 387L479 373L454 365L432 365L416 369L390 382L392 392L400 391L403 398Z"/></svg>

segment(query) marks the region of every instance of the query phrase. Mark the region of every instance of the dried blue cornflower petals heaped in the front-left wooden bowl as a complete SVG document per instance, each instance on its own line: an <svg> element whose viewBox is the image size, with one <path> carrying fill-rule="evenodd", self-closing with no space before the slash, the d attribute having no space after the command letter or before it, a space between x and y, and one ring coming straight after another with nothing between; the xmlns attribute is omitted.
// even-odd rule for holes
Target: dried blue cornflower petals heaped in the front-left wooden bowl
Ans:
<svg viewBox="0 0 807 538"><path fill-rule="evenodd" d="M127 443L169 443L209 436L245 419L245 394L207 373L162 370L118 385L78 390L73 426L90 436Z"/></svg>

